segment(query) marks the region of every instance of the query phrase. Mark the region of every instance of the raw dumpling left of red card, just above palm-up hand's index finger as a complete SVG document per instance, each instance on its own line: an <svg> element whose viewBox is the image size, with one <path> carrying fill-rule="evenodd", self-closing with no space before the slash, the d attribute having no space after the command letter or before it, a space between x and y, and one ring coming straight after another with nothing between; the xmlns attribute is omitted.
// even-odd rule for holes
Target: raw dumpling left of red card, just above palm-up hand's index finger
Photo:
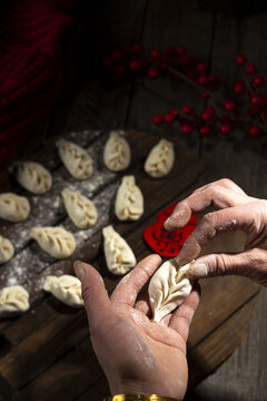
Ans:
<svg viewBox="0 0 267 401"><path fill-rule="evenodd" d="M136 256L127 242L111 225L102 229L103 252L108 270L117 275L129 272L136 265Z"/></svg>

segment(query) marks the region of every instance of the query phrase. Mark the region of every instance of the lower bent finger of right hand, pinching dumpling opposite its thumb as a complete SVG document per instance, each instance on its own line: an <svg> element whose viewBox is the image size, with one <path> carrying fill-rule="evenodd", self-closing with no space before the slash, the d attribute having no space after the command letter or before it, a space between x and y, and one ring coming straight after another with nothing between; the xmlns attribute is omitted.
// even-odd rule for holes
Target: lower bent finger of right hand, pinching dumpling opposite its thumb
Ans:
<svg viewBox="0 0 267 401"><path fill-rule="evenodd" d="M217 234L241 229L248 233L248 241L253 243L265 229L267 221L267 202L257 200L241 206L208 213L199 226L186 241L177 263L184 265L195 260L201 248Z"/></svg>

